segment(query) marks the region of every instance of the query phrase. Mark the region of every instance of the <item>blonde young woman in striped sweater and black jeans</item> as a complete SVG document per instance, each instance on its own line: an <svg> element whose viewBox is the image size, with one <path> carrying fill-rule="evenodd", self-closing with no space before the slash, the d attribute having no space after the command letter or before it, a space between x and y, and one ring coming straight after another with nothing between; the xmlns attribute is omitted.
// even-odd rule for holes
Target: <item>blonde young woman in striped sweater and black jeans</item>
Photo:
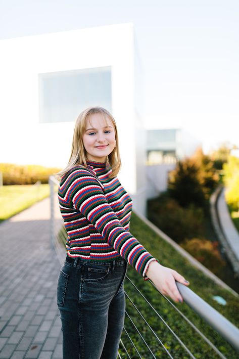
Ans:
<svg viewBox="0 0 239 359"><path fill-rule="evenodd" d="M116 176L120 165L112 115L101 107L81 112L70 160L59 173L59 203L68 233L57 293L64 359L117 358L127 263L176 302L182 297L175 280L188 284L130 234L132 202Z"/></svg>

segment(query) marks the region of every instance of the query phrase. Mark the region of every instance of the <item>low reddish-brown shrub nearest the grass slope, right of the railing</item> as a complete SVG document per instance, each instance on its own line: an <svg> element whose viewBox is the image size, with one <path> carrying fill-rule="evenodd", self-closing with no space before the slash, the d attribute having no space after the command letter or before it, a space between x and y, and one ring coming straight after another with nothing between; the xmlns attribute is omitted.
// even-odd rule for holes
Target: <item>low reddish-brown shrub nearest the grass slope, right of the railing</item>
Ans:
<svg viewBox="0 0 239 359"><path fill-rule="evenodd" d="M204 264L213 273L219 272L225 265L218 250L218 242L207 239L192 238L181 243L187 252L192 254L198 261Z"/></svg>

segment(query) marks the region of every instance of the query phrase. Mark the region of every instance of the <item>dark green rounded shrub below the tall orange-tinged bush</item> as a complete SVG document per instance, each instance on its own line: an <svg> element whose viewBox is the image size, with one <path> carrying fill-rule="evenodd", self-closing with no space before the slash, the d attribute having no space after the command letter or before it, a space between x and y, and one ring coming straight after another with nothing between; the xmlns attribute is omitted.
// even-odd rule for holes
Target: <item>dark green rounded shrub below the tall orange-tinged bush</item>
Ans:
<svg viewBox="0 0 239 359"><path fill-rule="evenodd" d="M148 218L177 243L203 234L203 210L183 208L166 195L148 201Z"/></svg>

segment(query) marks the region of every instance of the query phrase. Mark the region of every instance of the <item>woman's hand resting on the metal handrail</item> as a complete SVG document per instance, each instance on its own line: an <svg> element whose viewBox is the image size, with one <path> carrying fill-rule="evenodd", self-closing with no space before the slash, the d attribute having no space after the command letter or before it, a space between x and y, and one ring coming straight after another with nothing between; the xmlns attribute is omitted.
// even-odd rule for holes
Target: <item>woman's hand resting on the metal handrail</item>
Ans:
<svg viewBox="0 0 239 359"><path fill-rule="evenodd" d="M179 293L175 281L188 285L189 282L185 280L179 273L171 268L164 267L157 261L152 261L149 264L147 277L152 280L157 289L164 295L168 295L175 302L182 303L182 296Z"/></svg>

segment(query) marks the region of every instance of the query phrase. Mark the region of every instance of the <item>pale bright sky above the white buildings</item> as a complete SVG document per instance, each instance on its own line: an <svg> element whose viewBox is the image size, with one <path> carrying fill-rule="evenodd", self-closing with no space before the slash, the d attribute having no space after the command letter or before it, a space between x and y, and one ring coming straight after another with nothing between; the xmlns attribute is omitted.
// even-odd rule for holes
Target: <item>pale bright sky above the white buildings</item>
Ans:
<svg viewBox="0 0 239 359"><path fill-rule="evenodd" d="M146 128L239 147L239 1L0 0L0 39L132 22Z"/></svg>

